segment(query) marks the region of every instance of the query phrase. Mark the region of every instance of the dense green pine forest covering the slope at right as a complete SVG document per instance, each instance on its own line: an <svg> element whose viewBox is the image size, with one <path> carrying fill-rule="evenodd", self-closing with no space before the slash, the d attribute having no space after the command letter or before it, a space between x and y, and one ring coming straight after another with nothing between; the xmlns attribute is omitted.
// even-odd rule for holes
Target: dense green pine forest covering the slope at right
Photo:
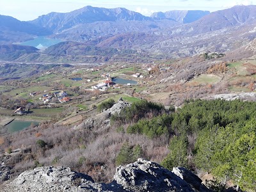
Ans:
<svg viewBox="0 0 256 192"><path fill-rule="evenodd" d="M130 125L127 133L170 136L163 166L212 172L250 191L256 185L255 108L240 100L192 100L176 113Z"/></svg>

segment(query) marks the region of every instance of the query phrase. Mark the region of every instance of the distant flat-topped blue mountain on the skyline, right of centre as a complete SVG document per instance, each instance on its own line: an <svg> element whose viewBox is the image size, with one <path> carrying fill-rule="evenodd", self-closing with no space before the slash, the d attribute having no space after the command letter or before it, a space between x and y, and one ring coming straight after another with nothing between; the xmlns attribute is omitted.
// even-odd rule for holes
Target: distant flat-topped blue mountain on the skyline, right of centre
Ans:
<svg viewBox="0 0 256 192"><path fill-rule="evenodd" d="M208 15L209 11L201 11L201 10L186 10L179 11L173 10L168 12L156 12L152 13L152 19L171 19L182 24L194 22L195 20L201 19L205 15Z"/></svg>

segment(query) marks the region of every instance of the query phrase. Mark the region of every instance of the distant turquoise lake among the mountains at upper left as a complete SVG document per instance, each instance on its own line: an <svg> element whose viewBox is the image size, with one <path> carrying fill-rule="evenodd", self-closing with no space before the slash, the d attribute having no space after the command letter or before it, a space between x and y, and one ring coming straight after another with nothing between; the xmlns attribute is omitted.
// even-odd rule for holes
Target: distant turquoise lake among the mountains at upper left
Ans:
<svg viewBox="0 0 256 192"><path fill-rule="evenodd" d="M33 40L22 42L20 45L28 45L36 47L37 49L45 49L52 45L62 42L60 39L46 38L45 36L38 36Z"/></svg>

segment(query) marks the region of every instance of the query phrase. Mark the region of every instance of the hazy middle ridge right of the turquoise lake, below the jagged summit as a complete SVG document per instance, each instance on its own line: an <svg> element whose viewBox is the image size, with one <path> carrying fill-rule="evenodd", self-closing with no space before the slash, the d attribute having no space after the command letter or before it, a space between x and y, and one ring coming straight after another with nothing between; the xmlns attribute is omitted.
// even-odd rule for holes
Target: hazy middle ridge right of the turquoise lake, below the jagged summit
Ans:
<svg viewBox="0 0 256 192"><path fill-rule="evenodd" d="M173 26L180 25L173 20L159 20L159 21L126 21L120 20L118 22L113 21L99 21L88 24L79 24L73 28L67 29L62 33L54 35L55 38L62 38L72 41L92 41L105 36L112 37L115 35L126 35L126 33L145 33L148 31L160 31L166 28L172 28ZM128 43L128 42L127 42ZM132 42L131 42L132 43Z"/></svg>

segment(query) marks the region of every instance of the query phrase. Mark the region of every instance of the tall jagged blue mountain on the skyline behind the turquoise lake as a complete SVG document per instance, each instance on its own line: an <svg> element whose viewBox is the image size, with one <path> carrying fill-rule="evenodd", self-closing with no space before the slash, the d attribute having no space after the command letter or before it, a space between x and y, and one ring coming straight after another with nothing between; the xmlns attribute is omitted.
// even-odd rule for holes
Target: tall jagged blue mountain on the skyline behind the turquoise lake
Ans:
<svg viewBox="0 0 256 192"><path fill-rule="evenodd" d="M51 29L54 33L60 33L66 29L73 28L80 24L88 24L98 21L120 21L120 20L151 20L140 13L129 11L125 8L97 8L85 6L79 10L69 13L49 13L38 19L31 20L32 24Z"/></svg>

